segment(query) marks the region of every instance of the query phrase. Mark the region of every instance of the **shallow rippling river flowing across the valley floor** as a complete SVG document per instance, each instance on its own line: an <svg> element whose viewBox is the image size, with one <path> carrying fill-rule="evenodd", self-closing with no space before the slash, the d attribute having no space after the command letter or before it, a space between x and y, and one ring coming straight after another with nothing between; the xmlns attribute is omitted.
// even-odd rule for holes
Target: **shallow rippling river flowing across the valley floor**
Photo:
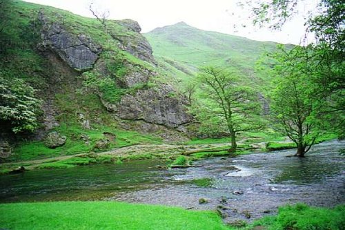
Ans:
<svg viewBox="0 0 345 230"><path fill-rule="evenodd" d="M345 142L294 150L216 157L199 167L159 169L162 162L79 166L0 176L0 202L120 200L186 209L220 209L226 220L254 220L283 204L333 207L345 203ZM199 199L207 200L199 204Z"/></svg>

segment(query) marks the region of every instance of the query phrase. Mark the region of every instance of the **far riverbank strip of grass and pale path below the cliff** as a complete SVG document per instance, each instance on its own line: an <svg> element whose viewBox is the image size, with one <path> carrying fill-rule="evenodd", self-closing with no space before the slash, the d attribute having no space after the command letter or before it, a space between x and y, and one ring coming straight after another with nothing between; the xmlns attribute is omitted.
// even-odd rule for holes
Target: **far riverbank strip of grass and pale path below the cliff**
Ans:
<svg viewBox="0 0 345 230"><path fill-rule="evenodd" d="M335 135L324 135L317 142L335 139ZM228 157L228 138L191 140L184 144L133 144L100 153L88 152L75 155L59 155L32 160L6 162L0 164L0 175L11 173L23 166L26 170L33 169L64 169L89 164L121 164L133 160L157 159L171 166L180 155L186 156L190 163L207 157ZM286 137L272 137L264 133L247 133L238 142L237 153L243 155L263 151L275 151L295 148L295 143L288 142ZM37 150L39 151L39 150Z"/></svg>

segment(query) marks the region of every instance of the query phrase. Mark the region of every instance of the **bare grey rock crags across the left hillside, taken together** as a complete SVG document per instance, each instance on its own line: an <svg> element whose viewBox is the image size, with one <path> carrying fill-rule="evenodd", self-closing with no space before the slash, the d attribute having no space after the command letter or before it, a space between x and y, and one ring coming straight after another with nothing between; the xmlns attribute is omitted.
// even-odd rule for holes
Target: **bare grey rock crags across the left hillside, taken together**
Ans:
<svg viewBox="0 0 345 230"><path fill-rule="evenodd" d="M146 61L150 64L148 67L124 57L117 59L119 52L117 48L105 50L101 44L92 39L92 36L69 32L63 24L50 21L44 10L40 10L38 19L41 22L39 50L53 52L70 68L77 71L88 70L90 73L97 73L99 79L112 76L110 79L117 85L117 89L132 89L141 86L131 90L131 93L123 93L117 102L107 101L101 90L97 89L97 95L101 97L101 102L110 113L115 113L121 119L141 120L167 128L177 128L192 121L193 117L186 110L188 102L177 93L174 87L169 84L147 87L150 80L159 73L154 68L156 63L152 57L151 46L139 34L141 28L137 22L129 19L117 21L115 22L117 26L122 28L110 29L108 33L113 42L117 42L117 48ZM130 33L124 34L124 30ZM105 53L112 53L112 55L109 57L104 55ZM117 69L112 68L119 63L120 68L124 69L122 75L114 73Z"/></svg>

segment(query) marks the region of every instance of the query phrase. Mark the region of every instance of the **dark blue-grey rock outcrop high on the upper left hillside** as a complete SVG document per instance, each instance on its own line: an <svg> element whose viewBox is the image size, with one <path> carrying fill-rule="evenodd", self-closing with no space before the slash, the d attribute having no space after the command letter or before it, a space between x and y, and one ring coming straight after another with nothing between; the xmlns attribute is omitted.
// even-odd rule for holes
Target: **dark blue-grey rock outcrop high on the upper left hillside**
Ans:
<svg viewBox="0 0 345 230"><path fill-rule="evenodd" d="M41 50L50 49L59 55L63 61L77 70L88 70L99 57L101 47L94 44L86 35L73 35L57 22L50 22L39 12L41 21Z"/></svg>

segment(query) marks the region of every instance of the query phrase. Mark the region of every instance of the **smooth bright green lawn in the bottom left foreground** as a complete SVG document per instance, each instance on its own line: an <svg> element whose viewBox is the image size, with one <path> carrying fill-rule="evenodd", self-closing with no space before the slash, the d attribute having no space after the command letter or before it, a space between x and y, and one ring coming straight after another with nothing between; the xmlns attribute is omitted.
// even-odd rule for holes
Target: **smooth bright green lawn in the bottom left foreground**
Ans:
<svg viewBox="0 0 345 230"><path fill-rule="evenodd" d="M212 211L121 202L0 204L4 229L228 229Z"/></svg>

